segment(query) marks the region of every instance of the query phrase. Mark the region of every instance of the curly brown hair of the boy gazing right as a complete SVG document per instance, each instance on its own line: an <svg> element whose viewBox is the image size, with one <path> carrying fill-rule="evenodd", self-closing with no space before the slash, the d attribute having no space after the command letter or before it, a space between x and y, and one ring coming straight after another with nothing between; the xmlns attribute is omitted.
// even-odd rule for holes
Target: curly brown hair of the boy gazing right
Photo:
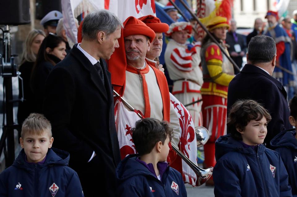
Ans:
<svg viewBox="0 0 297 197"><path fill-rule="evenodd" d="M263 117L267 122L270 122L271 116L269 112L259 103L254 100L238 100L236 101L229 112L227 126L231 137L236 140L242 140L241 134L236 130L244 131L245 126L251 120L259 121Z"/></svg>

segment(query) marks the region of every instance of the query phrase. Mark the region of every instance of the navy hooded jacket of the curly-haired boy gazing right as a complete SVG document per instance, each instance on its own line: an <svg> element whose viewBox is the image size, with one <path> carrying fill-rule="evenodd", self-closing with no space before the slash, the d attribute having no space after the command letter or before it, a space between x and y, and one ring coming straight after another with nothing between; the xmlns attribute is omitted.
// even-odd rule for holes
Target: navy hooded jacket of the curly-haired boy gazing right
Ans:
<svg viewBox="0 0 297 197"><path fill-rule="evenodd" d="M213 169L215 196L287 197L292 196L288 173L278 152L243 145L221 136L215 143L217 164Z"/></svg>

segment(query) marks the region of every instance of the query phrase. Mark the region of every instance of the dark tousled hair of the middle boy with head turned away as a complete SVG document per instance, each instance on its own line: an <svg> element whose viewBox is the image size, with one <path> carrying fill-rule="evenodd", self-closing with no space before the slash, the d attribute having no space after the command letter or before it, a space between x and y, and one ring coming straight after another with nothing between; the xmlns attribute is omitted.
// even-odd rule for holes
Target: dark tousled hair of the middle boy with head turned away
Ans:
<svg viewBox="0 0 297 197"><path fill-rule="evenodd" d="M173 129L169 122L159 121L155 118L144 118L135 123L131 129L135 149L140 156L150 153L157 142L164 144L167 136L170 141L173 137Z"/></svg>

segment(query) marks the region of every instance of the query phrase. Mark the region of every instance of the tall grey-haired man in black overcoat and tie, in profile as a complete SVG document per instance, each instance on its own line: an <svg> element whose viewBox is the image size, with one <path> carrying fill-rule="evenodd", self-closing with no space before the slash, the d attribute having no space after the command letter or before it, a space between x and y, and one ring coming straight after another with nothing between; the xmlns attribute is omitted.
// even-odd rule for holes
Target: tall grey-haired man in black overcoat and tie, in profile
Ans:
<svg viewBox="0 0 297 197"><path fill-rule="evenodd" d="M115 196L120 153L104 59L119 47L121 28L110 11L89 13L81 43L54 67L45 84L43 111L52 124L54 147L70 153L69 166L78 173L86 197Z"/></svg>

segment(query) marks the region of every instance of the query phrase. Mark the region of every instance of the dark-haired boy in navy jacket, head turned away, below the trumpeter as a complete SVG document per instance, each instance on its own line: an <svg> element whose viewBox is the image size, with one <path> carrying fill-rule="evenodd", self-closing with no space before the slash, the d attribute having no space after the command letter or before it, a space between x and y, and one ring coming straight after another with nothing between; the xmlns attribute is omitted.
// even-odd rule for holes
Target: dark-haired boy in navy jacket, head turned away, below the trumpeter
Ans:
<svg viewBox="0 0 297 197"><path fill-rule="evenodd" d="M137 121L131 131L139 154L127 156L118 165L118 196L187 196L181 174L166 162L173 135L170 124L145 118Z"/></svg>

